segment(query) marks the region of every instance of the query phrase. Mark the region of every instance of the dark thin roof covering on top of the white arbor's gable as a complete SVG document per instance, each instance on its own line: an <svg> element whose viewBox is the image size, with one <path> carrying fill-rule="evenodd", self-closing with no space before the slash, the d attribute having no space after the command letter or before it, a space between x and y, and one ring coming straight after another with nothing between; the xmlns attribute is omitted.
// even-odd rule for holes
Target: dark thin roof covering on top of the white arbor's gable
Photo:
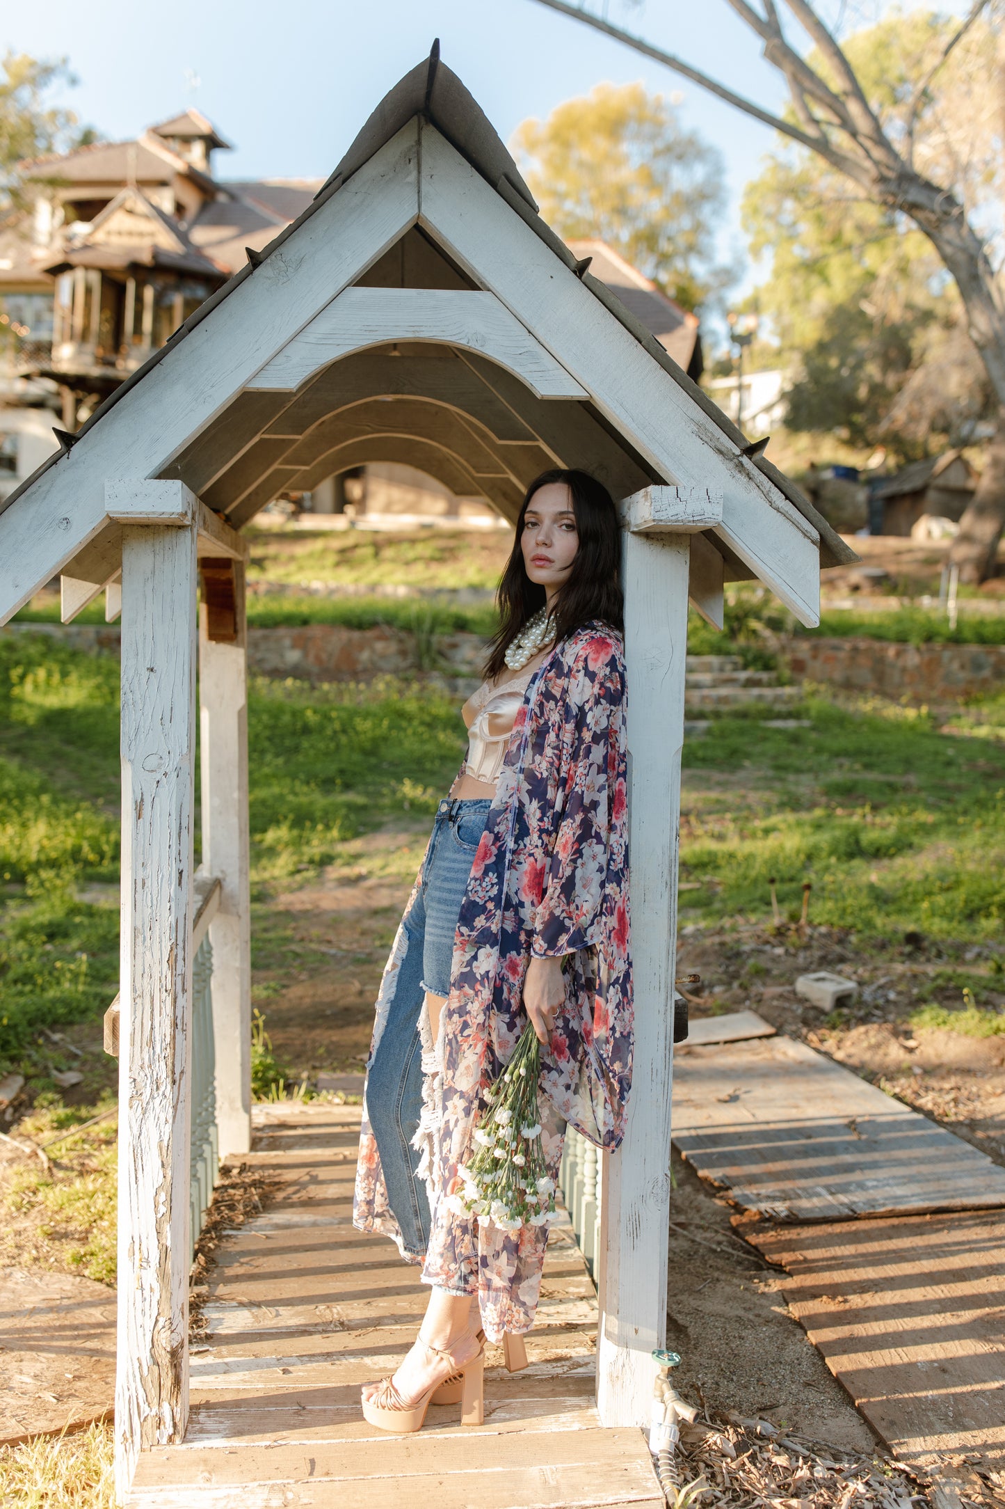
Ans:
<svg viewBox="0 0 1005 1509"><path fill-rule="evenodd" d="M527 226L541 240L548 252L557 257L562 264L576 275L582 288L597 299L609 315L619 321L619 324L648 353L648 356L657 362L663 373L666 373L669 379L672 379L672 382L683 389L687 401L701 409L705 420L717 427L731 442L722 448L711 442L710 468L713 474L720 472L723 466L735 469L737 483L740 484L740 496L746 493L750 499L750 506L753 507L755 498L749 492L749 483L744 483L744 475L749 475L746 468L753 466L774 489L777 489L780 495L784 495L784 498L790 501L799 513L803 515L817 533L821 566L844 564L857 560L854 551L844 543L826 519L812 507L799 489L796 489L788 478L777 471L777 468L774 468L762 456L750 454L750 447L740 430L726 418L725 413L722 413L711 398L708 398L696 386L696 383L686 376L664 347L655 340L651 330L648 330L639 318L625 308L622 300L600 278L592 276L592 273L583 267L582 261L577 260L574 254L559 240L559 237L544 223L544 220L541 220L530 190L524 184L512 157L503 146L487 116L460 78L440 63L438 44L434 44L429 59L411 69L381 101L350 146L348 152L342 157L334 174L321 187L303 214L300 214L294 223L283 228L268 243L261 255L256 254L253 264L246 264L223 288L206 299L175 332L166 347L155 352L151 359L139 368L139 371L115 389L115 392L98 407L87 424L81 429L78 436L75 436L75 442L87 436L96 426L102 424L115 406L122 403L122 400L139 383L142 383L152 368L163 362L166 356L175 356L179 346L185 341L187 335L196 324L206 320L217 305L223 299L229 297L247 278L253 278L255 270L261 267L264 261L274 257L280 247L285 246L289 237L295 237L312 216L322 210L333 199L333 196L336 196L339 190L392 140L392 137L395 137L413 121L417 121L420 128L423 122L428 122L435 128L434 134L444 139L444 142L466 160L470 169L491 186L494 193L497 193L505 205L508 205L508 208L523 220L524 226ZM576 406L573 404L571 407ZM595 415L595 418L589 423L594 427L600 423L603 427L606 421L603 421L603 416ZM627 444L630 447L631 441L628 439ZM705 439L705 445L708 444L710 441ZM83 459L87 447L80 450L80 459ZM99 439L98 451L101 451ZM737 453L740 453L740 456L746 456L746 460L741 460ZM74 454L77 456L77 444L74 444ZM258 453L252 454L252 451L249 451L247 463L252 469L258 466ZM21 493L32 487L42 471L47 471L48 466L53 465L59 465L59 459L50 460L47 466L39 468L33 478L29 478L21 487L12 492L5 501L3 509L9 507L17 498L21 496ZM649 475L655 477L658 474L649 472ZM268 483L265 483L265 486L268 486ZM770 490L764 492L762 496L765 507L777 509L777 502L771 504L770 501ZM267 498L262 496L261 502L256 506L261 507ZM89 507L92 504L89 504ZM243 518L249 516L249 512L243 513Z"/></svg>

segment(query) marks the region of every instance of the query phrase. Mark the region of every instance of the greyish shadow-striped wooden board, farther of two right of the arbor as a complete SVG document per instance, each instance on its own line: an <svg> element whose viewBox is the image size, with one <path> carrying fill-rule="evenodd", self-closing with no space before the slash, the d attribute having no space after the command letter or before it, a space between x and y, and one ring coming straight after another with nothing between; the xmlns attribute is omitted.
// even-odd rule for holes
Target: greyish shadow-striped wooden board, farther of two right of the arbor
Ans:
<svg viewBox="0 0 1005 1509"><path fill-rule="evenodd" d="M780 1035L686 1053L674 1142L737 1204L782 1221L1005 1206L1005 1168Z"/></svg>

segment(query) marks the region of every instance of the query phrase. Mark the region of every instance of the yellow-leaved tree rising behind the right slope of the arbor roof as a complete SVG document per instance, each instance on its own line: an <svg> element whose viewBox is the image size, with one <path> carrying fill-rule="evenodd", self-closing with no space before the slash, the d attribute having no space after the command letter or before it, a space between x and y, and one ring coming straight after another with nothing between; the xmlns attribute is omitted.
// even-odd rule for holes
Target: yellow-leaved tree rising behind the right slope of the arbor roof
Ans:
<svg viewBox="0 0 1005 1509"><path fill-rule="evenodd" d="M567 240L600 237L693 309L728 281L713 231L722 161L664 95L597 85L524 121L514 149L545 220Z"/></svg>

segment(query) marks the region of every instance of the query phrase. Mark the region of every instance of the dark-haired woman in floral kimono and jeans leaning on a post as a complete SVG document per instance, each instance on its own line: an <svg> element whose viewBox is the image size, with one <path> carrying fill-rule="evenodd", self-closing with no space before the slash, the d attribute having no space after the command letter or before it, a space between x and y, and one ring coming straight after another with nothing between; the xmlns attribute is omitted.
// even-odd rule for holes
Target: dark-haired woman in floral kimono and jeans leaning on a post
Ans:
<svg viewBox="0 0 1005 1509"><path fill-rule="evenodd" d="M601 483L548 471L530 484L485 684L463 711L467 759L440 803L384 970L354 1222L395 1237L432 1286L401 1367L363 1390L366 1418L387 1431L417 1431L448 1378L452 1396L461 1385L463 1421L479 1423L481 1328L497 1342L533 1325L547 1225L503 1231L455 1198L479 1093L527 1020L542 1046L550 1177L567 1123L600 1147L624 1135L631 964L619 558Z"/></svg>

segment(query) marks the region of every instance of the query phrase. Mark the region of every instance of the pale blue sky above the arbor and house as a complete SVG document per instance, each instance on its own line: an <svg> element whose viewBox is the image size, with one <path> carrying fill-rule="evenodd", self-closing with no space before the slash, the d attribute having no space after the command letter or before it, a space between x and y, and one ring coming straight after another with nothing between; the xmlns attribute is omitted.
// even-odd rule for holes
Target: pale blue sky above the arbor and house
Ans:
<svg viewBox="0 0 1005 1509"><path fill-rule="evenodd" d="M780 106L779 75L726 0L610 0L609 15L759 104ZM237 148L217 157L217 172L232 178L327 177L434 36L505 140L526 116L544 116L600 80L640 78L680 95L684 124L722 152L729 204L719 243L729 260L743 250L743 186L771 145L756 121L533 0L175 0L157 11L48 0L11 8L2 26L6 48L68 57L80 83L62 91L65 103L108 137L196 104Z"/></svg>

